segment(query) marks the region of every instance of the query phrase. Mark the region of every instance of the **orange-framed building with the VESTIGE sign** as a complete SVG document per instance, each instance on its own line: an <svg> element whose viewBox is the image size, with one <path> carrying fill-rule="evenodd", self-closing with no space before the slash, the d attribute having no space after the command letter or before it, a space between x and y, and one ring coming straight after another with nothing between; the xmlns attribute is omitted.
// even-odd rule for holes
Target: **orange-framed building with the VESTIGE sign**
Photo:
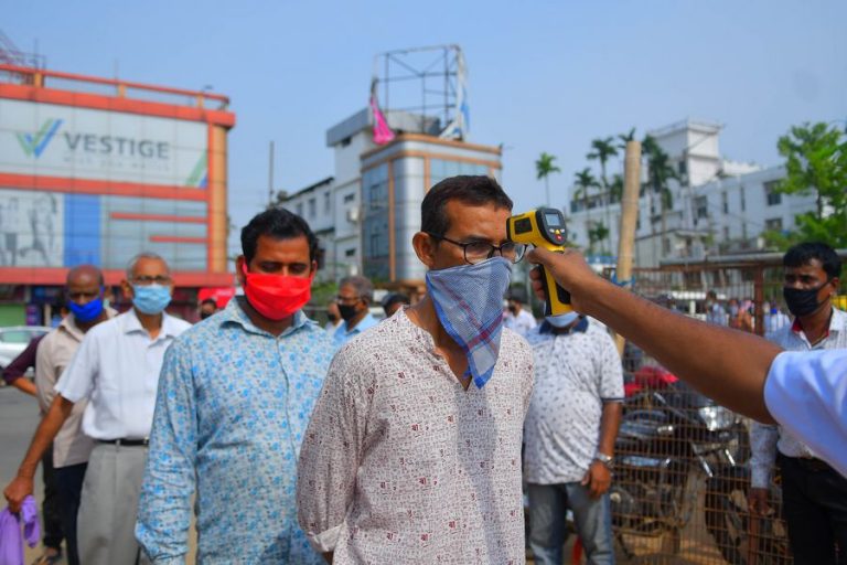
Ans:
<svg viewBox="0 0 847 565"><path fill-rule="evenodd" d="M201 287L232 286L227 105L0 65L0 324L44 323L69 267L97 265L116 286L140 252L170 264L178 313Z"/></svg>

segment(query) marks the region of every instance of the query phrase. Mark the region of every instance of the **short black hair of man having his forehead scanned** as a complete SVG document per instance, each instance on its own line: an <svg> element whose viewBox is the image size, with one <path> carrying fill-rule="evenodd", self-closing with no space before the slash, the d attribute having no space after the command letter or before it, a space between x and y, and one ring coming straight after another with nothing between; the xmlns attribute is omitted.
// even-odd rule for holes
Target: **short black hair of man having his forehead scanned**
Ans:
<svg viewBox="0 0 847 565"><path fill-rule="evenodd" d="M444 235L450 231L450 222L444 206L451 200L464 204L482 206L494 204L512 210L510 199L497 181L484 174L450 177L432 186L420 204L420 231L428 234Z"/></svg>

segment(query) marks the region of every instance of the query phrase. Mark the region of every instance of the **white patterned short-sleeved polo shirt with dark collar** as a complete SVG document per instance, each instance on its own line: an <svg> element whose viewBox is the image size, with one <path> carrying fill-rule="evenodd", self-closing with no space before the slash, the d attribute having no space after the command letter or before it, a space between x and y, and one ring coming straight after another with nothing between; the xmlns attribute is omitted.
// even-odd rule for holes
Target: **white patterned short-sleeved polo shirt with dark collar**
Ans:
<svg viewBox="0 0 847 565"><path fill-rule="evenodd" d="M600 443L603 404L624 396L621 358L604 329L587 318L569 333L548 328L527 338L535 388L524 423L524 472L535 484L581 480Z"/></svg>

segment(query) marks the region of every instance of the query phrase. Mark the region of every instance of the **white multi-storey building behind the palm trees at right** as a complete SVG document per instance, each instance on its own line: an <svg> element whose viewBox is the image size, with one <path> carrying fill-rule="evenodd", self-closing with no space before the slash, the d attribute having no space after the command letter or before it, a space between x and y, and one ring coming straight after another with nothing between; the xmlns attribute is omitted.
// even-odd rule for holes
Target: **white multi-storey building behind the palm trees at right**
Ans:
<svg viewBox="0 0 847 565"><path fill-rule="evenodd" d="M785 174L782 167L762 169L722 159L717 124L685 120L648 134L668 154L680 181L669 181L673 202L664 214L660 195L646 191L640 198L635 231L639 267L657 266L669 258L699 259L706 254L761 249L762 232L792 230L796 215L815 209L814 196L774 191ZM642 181L646 179L642 170ZM602 224L609 237L596 242L591 253L611 263L618 252L620 218L620 203L609 203L600 191L588 199L572 199L570 238L588 248L589 231Z"/></svg>

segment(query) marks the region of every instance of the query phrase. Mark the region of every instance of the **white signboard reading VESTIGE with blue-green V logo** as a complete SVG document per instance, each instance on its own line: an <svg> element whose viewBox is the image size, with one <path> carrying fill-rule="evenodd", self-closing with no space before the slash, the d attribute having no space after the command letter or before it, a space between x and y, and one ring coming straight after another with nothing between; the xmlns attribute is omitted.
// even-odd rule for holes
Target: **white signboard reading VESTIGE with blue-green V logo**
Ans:
<svg viewBox="0 0 847 565"><path fill-rule="evenodd" d="M0 173L206 188L207 126L0 99Z"/></svg>

